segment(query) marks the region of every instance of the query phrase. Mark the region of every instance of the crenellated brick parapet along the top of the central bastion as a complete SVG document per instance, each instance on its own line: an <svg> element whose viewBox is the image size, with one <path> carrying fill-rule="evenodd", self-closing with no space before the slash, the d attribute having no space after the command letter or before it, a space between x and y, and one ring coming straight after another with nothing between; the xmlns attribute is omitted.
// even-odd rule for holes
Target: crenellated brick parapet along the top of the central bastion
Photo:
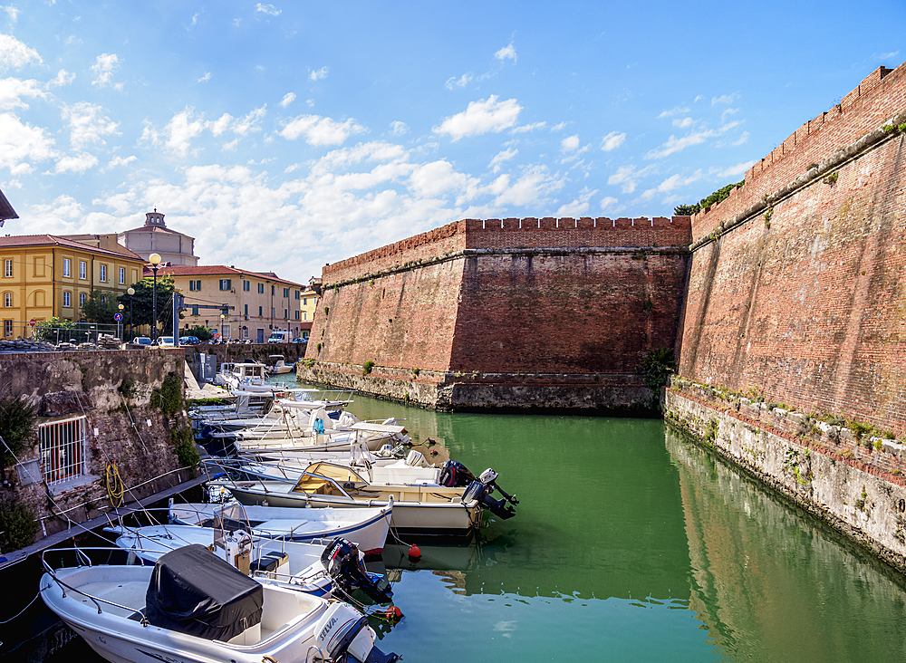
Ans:
<svg viewBox="0 0 906 663"><path fill-rule="evenodd" d="M689 216L462 219L323 268L324 283L456 254L466 249L688 246Z"/></svg>

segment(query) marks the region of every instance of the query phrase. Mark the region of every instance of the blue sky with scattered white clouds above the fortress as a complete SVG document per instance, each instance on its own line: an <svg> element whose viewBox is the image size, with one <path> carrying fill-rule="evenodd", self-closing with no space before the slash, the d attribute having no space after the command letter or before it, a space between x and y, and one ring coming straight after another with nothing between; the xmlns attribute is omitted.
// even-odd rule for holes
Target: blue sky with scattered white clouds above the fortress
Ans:
<svg viewBox="0 0 906 663"><path fill-rule="evenodd" d="M872 0L0 5L3 232L157 207L202 264L304 283L459 218L670 216L904 35Z"/></svg>

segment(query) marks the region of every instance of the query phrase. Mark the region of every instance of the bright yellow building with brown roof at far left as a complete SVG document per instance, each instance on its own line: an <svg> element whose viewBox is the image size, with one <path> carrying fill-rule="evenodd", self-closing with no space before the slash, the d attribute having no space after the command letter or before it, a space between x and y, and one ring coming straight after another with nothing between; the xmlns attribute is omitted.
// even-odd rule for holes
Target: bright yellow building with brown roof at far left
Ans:
<svg viewBox="0 0 906 663"><path fill-rule="evenodd" d="M93 245L61 235L0 237L0 337L28 337L33 321L78 321L92 290L119 297L140 280L140 256L84 236Z"/></svg>

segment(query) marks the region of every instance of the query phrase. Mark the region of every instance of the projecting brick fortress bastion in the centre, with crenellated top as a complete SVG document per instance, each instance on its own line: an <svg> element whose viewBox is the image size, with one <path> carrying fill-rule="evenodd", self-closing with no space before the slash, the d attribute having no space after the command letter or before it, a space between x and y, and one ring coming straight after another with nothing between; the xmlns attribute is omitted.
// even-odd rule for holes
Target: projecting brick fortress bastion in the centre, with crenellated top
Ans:
<svg viewBox="0 0 906 663"><path fill-rule="evenodd" d="M576 382L641 400L641 355L676 339L689 238L689 217L466 219L328 265L300 377L439 405L430 385L448 407Z"/></svg>

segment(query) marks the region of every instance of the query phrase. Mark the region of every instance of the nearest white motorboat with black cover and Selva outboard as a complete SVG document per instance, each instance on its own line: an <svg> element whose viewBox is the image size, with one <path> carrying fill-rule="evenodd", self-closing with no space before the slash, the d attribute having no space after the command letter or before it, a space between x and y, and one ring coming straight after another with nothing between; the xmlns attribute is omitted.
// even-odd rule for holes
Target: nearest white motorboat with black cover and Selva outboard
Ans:
<svg viewBox="0 0 906 663"><path fill-rule="evenodd" d="M398 659L374 647L367 619L348 603L249 578L203 545L154 566L92 565L81 552L81 565L54 569L46 554L44 603L115 663Z"/></svg>

